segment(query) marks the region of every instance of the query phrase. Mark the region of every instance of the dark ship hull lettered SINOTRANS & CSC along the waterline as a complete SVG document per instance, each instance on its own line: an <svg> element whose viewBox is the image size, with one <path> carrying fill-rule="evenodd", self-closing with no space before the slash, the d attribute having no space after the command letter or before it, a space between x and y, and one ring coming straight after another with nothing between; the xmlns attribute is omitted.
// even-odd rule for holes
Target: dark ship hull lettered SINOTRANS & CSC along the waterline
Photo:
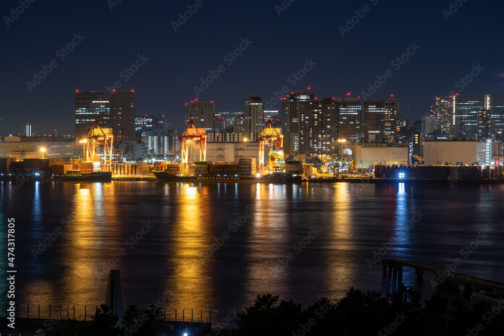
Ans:
<svg viewBox="0 0 504 336"><path fill-rule="evenodd" d="M292 176L283 173L272 173L264 176L215 176L215 175L195 175L195 176L179 176L166 172L154 172L154 175L159 182L231 182L231 183L301 183L301 176Z"/></svg>

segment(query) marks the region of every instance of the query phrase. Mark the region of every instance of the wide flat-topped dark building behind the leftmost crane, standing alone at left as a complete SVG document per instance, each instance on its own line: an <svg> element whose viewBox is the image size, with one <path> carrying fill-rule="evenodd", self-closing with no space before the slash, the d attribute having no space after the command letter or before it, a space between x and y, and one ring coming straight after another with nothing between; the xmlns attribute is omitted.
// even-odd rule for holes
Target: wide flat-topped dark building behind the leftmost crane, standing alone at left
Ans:
<svg viewBox="0 0 504 336"><path fill-rule="evenodd" d="M75 93L75 137L82 139L98 121L112 128L114 141L135 139L134 91L77 91Z"/></svg>

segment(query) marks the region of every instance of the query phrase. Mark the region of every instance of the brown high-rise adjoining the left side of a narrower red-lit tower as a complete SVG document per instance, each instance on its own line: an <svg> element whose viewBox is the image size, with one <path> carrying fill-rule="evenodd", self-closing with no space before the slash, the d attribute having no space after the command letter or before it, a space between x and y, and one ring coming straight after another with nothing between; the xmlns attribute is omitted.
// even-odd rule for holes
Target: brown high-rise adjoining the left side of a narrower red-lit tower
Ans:
<svg viewBox="0 0 504 336"><path fill-rule="evenodd" d="M363 111L364 143L381 143L384 140L385 102L366 101Z"/></svg>

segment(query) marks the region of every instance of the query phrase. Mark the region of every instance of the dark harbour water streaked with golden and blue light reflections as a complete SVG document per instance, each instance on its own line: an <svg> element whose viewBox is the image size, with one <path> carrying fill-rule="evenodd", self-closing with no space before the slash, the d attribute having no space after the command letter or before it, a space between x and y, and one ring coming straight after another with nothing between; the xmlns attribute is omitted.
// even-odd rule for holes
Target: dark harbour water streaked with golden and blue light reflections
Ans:
<svg viewBox="0 0 504 336"><path fill-rule="evenodd" d="M382 243L394 241L386 258L431 264L433 255L443 254L442 263L482 229L490 238L457 272L490 279L502 262L500 185L128 181L11 188L0 188L0 220L16 219L17 295L20 304L33 306L99 305L108 269L121 270L127 305L145 306L169 293L168 313L212 309L217 320L265 293L307 305L322 296L341 298L351 286L390 288L381 262L371 269L366 263ZM233 226L247 207L251 216ZM415 211L425 216L411 227ZM66 216L68 226L61 223ZM154 227L132 246L129 239L146 222ZM32 249L58 226L62 234L35 259ZM317 237L294 249L314 227L321 230ZM5 235L0 233L1 247ZM114 260L121 249L127 253ZM5 262L0 260L2 270ZM428 277L418 285L427 296ZM416 285L413 272L405 271L403 280Z"/></svg>

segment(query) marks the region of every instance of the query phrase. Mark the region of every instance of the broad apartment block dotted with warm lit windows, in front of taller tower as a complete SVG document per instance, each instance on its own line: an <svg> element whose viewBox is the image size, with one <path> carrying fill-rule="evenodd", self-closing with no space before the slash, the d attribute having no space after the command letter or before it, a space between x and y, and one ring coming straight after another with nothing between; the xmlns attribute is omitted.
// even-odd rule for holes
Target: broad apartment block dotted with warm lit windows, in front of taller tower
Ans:
<svg viewBox="0 0 504 336"><path fill-rule="evenodd" d="M331 98L299 102L299 154L336 154L341 102Z"/></svg>

